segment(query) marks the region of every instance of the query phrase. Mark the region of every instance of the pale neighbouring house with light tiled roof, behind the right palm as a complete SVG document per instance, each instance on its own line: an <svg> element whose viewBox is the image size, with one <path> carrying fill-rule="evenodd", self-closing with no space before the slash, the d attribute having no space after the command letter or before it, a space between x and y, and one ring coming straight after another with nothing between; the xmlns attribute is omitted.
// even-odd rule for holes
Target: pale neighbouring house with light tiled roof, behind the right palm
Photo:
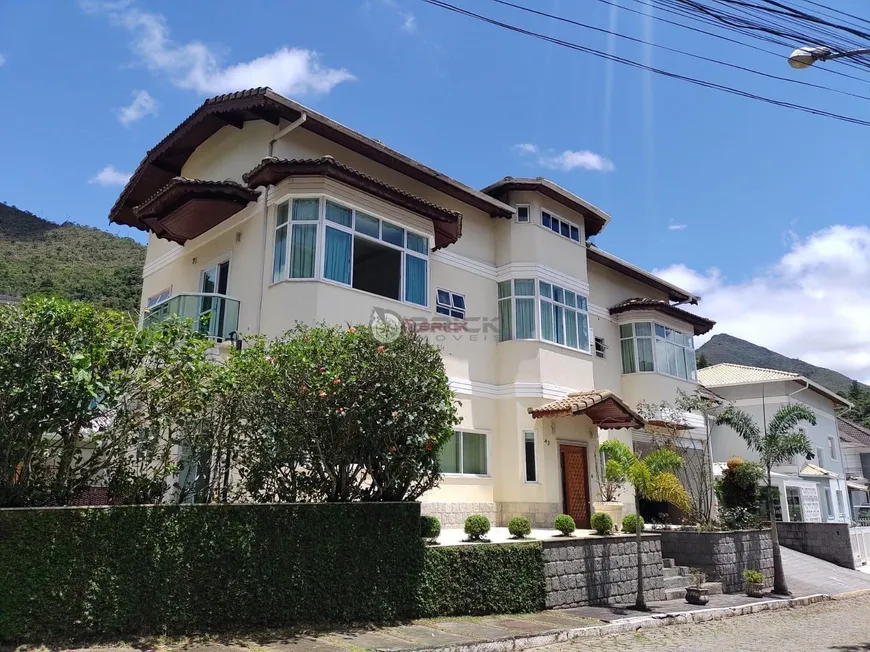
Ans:
<svg viewBox="0 0 870 652"><path fill-rule="evenodd" d="M803 403L816 414L816 425L803 429L813 443L814 458L791 460L773 469L773 484L779 490L785 521L847 521L849 518L843 452L837 434L837 412L851 404L834 392L803 376L787 371L717 364L698 371L698 379L726 401L749 413L759 427L789 403ZM727 426L710 432L714 468L721 469L729 457L750 462L758 454ZM777 510L779 513L780 510Z"/></svg>

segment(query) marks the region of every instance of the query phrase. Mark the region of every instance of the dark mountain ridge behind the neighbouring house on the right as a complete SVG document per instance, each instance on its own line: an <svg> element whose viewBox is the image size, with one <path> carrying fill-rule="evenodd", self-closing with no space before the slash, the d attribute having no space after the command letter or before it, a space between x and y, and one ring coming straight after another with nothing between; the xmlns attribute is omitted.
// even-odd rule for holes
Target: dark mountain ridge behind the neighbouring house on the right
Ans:
<svg viewBox="0 0 870 652"><path fill-rule="evenodd" d="M698 357L703 355L711 365L730 362L749 367L790 371L805 376L834 392L846 394L852 385L852 379L841 373L811 365L809 362L797 358L787 358L776 351L765 349L763 346L731 335L714 335L698 349L697 353ZM865 390L870 389L866 385L860 385L860 387Z"/></svg>

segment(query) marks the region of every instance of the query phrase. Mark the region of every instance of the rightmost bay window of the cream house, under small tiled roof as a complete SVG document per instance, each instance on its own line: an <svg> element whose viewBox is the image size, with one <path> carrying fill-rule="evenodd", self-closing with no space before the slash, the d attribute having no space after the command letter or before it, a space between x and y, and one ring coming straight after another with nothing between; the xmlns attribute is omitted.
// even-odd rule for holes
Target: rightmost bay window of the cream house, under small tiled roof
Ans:
<svg viewBox="0 0 870 652"><path fill-rule="evenodd" d="M691 335L655 322L620 324L622 373L655 371L695 380L695 345Z"/></svg>

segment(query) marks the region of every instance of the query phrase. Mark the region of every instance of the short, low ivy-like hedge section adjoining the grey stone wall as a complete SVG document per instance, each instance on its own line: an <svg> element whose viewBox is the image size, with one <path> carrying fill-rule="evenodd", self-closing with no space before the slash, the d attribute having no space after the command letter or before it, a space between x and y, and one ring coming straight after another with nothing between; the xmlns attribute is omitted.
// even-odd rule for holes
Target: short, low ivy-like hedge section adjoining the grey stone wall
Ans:
<svg viewBox="0 0 870 652"><path fill-rule="evenodd" d="M428 548L420 615L477 616L544 608L540 543Z"/></svg>

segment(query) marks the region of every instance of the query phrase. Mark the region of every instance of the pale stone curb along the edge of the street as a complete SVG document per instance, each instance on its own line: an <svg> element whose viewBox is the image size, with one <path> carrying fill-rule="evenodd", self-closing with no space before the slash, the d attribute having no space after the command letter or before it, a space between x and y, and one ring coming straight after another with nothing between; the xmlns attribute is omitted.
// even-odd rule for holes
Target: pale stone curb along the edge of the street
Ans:
<svg viewBox="0 0 870 652"><path fill-rule="evenodd" d="M414 648L414 652L507 652L525 650L553 643L564 643L574 639L596 638L612 634L625 634L641 629L656 629L668 625L685 625L689 623L706 623L712 620L723 620L734 616L747 616L749 614L762 613L764 611L777 611L791 607L804 607L817 602L826 602L832 599L843 599L870 593L867 591L854 591L843 593L836 598L824 593L816 593L800 598L788 598L785 600L765 600L740 605L739 607L717 607L714 609L697 609L695 611L683 611L678 613L655 614L653 616L638 616L637 618L625 618L606 625L593 625L592 627L577 627L562 631L543 632L540 634L520 634L518 636L506 636L504 638L489 639L471 643L459 643L457 645L444 645L440 647ZM376 648L376 652L397 652L399 648Z"/></svg>

